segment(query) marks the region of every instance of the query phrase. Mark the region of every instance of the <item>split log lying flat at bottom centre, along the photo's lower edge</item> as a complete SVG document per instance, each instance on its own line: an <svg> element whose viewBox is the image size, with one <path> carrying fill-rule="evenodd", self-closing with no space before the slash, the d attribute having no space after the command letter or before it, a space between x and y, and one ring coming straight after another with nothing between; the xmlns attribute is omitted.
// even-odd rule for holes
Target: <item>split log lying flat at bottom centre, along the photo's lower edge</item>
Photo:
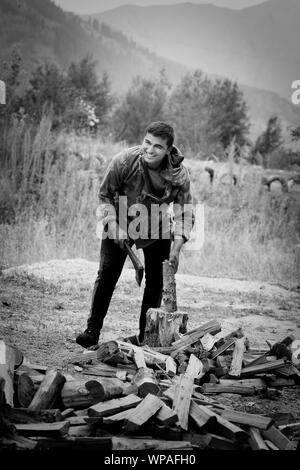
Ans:
<svg viewBox="0 0 300 470"><path fill-rule="evenodd" d="M192 449L190 442L163 441L158 439L134 439L126 437L112 437L112 451L116 450L187 450Z"/></svg>

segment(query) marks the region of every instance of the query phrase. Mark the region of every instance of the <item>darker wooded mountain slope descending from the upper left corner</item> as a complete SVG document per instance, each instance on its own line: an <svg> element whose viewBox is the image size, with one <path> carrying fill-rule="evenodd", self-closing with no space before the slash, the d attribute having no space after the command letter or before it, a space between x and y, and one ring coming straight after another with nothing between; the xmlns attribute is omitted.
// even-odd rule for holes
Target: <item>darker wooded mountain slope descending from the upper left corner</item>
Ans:
<svg viewBox="0 0 300 470"><path fill-rule="evenodd" d="M128 88L134 75L154 77L164 68L176 82L187 71L109 26L64 12L50 0L0 0L0 44L0 62L17 48L28 72L45 61L65 69L91 54L99 77L106 71L118 92Z"/></svg>

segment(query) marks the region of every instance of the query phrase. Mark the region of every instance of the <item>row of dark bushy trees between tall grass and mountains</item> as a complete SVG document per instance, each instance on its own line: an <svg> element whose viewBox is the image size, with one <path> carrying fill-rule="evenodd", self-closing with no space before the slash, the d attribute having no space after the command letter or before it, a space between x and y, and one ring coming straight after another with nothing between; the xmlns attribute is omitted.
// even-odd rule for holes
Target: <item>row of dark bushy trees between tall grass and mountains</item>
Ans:
<svg viewBox="0 0 300 470"><path fill-rule="evenodd" d="M117 96L106 73L98 78L91 56L72 62L66 71L53 63L39 65L24 80L22 60L14 51L2 63L0 78L8 97L7 105L0 107L2 122L35 124L48 112L53 130L89 132L136 145L151 121L166 120L175 126L177 144L193 158L213 154L222 160L234 141L238 149L248 149L252 163L259 163L259 154L266 166L267 155L283 150L277 116L271 116L264 132L250 142L247 103L238 84L212 80L201 70L186 73L175 87L163 70L156 78L136 76L128 91ZM292 130L293 139L299 134L299 128Z"/></svg>

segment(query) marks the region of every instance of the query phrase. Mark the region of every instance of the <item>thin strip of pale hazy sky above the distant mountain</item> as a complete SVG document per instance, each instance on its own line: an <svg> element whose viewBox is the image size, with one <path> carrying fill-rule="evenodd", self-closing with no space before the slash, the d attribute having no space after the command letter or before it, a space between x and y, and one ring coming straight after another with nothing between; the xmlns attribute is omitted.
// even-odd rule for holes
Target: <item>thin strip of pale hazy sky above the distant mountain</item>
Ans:
<svg viewBox="0 0 300 470"><path fill-rule="evenodd" d="M193 0L190 3L211 3L227 8L246 8L266 0ZM185 3L186 0L55 0L55 3L64 10L73 11L78 14L97 13L104 9L115 8L120 5L167 5L174 3Z"/></svg>

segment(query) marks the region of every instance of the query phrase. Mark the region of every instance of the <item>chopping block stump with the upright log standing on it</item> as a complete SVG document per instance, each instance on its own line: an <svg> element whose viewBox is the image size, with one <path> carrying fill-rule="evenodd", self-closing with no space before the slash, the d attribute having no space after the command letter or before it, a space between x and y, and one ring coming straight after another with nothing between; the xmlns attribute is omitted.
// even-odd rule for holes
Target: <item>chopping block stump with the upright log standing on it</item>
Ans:
<svg viewBox="0 0 300 470"><path fill-rule="evenodd" d="M163 303L149 308L143 344L150 347L170 346L187 328L187 313L177 311L175 273L169 261L163 262Z"/></svg>

